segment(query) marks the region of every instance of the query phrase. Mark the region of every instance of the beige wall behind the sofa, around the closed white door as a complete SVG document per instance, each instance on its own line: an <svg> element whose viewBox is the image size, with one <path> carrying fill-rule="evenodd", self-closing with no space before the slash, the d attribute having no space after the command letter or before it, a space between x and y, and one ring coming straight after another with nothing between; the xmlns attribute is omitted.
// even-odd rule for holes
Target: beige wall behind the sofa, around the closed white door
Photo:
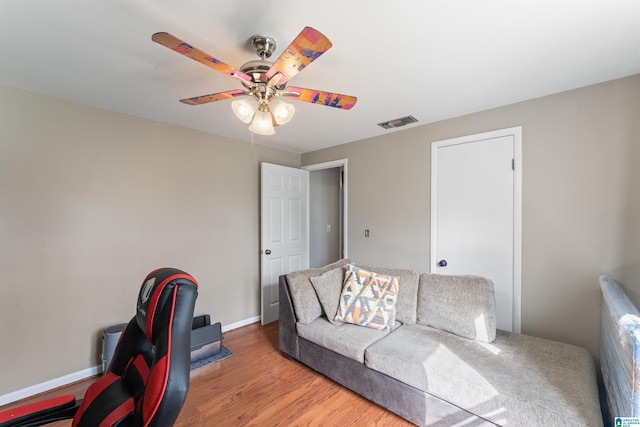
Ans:
<svg viewBox="0 0 640 427"><path fill-rule="evenodd" d="M522 330L597 355L600 273L640 305L639 118L636 75L306 153L302 164L349 159L351 259L425 272L430 143L522 126Z"/></svg>

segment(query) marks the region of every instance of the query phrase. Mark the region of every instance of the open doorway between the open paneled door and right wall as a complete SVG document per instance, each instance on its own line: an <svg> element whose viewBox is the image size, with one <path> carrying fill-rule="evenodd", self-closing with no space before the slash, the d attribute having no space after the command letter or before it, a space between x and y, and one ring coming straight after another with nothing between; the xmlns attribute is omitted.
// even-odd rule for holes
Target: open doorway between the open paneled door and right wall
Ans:
<svg viewBox="0 0 640 427"><path fill-rule="evenodd" d="M305 166L309 171L309 267L347 257L347 160Z"/></svg>

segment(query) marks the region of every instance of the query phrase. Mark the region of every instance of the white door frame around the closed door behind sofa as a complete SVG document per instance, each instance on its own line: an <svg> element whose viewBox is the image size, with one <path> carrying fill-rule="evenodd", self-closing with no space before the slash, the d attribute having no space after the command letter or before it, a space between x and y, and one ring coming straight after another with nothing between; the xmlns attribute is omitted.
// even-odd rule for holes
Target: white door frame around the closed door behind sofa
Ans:
<svg viewBox="0 0 640 427"><path fill-rule="evenodd" d="M471 143L513 136L513 332L522 328L522 126L465 135L431 142L431 248L429 270L437 271L438 230L438 149L449 145Z"/></svg>

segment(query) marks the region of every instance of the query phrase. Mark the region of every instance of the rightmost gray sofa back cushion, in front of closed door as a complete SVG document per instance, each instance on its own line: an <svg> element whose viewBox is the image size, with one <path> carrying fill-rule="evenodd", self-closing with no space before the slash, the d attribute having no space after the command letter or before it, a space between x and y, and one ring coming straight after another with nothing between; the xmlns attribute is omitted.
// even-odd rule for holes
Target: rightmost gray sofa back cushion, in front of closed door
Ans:
<svg viewBox="0 0 640 427"><path fill-rule="evenodd" d="M483 342L496 339L493 283L478 276L421 274L417 323Z"/></svg>

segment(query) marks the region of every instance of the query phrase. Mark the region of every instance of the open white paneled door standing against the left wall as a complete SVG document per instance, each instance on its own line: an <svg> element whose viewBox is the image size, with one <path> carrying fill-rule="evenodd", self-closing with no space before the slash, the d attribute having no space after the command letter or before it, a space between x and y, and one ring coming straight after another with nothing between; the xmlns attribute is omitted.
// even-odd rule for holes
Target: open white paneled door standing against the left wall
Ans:
<svg viewBox="0 0 640 427"><path fill-rule="evenodd" d="M278 320L278 278L309 266L309 172L261 164L262 324Z"/></svg>

